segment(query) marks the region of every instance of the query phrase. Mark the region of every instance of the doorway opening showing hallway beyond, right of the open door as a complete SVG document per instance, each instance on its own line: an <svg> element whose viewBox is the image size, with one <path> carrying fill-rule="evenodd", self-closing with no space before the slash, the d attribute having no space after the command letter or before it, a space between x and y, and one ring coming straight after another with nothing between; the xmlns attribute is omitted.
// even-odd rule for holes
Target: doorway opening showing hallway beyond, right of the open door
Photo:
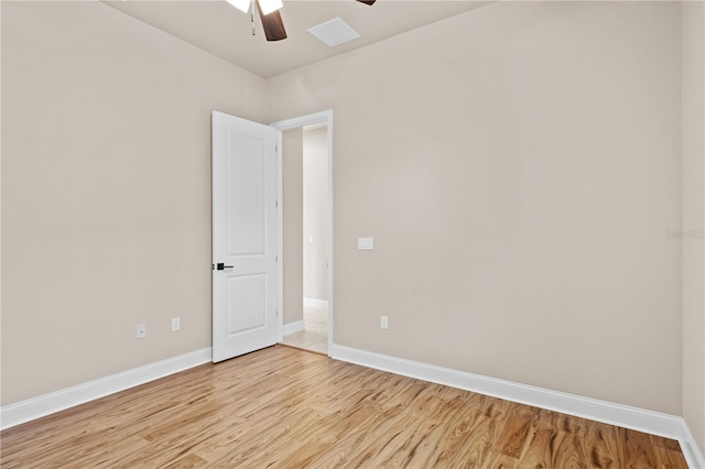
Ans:
<svg viewBox="0 0 705 469"><path fill-rule="evenodd" d="M333 345L333 112L279 121L282 131L279 342L329 355Z"/></svg>

